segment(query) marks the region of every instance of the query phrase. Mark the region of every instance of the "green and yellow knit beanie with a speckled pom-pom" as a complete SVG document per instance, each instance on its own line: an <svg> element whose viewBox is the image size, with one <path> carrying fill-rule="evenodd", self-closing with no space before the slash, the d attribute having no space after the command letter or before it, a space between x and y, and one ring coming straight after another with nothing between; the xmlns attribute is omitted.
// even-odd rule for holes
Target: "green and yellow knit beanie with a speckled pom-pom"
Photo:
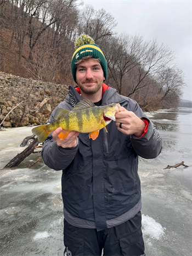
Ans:
<svg viewBox="0 0 192 256"><path fill-rule="evenodd" d="M101 49L94 43L92 37L87 35L81 35L77 38L75 42L75 49L74 55L72 55L71 61L71 72L74 81L76 82L76 69L77 65L75 64L78 60L91 55L94 59L100 59L100 65L103 69L105 79L108 76L108 66L106 64L106 59L101 51Z"/></svg>

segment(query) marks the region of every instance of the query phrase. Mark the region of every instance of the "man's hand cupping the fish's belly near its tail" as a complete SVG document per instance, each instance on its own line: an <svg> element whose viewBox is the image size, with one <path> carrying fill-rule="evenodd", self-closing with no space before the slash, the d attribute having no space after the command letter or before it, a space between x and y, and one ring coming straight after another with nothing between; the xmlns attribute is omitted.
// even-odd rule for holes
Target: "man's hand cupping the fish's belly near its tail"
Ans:
<svg viewBox="0 0 192 256"><path fill-rule="evenodd" d="M71 131L66 138L64 138L64 140L61 140L59 138L59 133L62 131L63 129L61 127L57 128L53 133L52 133L52 137L53 140L57 143L58 146L63 147L63 148L72 148L76 146L77 143L77 136L79 134L79 132L77 131Z"/></svg>

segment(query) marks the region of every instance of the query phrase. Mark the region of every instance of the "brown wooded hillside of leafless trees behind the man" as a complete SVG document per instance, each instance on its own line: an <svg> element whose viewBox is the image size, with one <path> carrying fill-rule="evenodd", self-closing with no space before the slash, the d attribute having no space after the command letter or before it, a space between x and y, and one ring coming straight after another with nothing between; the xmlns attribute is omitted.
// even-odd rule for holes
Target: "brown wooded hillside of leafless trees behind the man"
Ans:
<svg viewBox="0 0 192 256"><path fill-rule="evenodd" d="M174 52L156 40L117 35L115 18L77 0L0 0L0 71L73 84L71 57L81 34L94 38L108 63L106 84L143 110L177 107L184 86Z"/></svg>

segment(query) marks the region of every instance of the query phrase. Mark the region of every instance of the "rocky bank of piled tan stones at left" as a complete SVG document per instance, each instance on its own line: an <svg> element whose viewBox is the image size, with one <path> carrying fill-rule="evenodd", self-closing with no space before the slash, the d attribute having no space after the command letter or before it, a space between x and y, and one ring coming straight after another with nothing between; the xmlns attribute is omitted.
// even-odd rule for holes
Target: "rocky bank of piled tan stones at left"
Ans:
<svg viewBox="0 0 192 256"><path fill-rule="evenodd" d="M53 109L64 101L68 87L0 72L1 127L46 124Z"/></svg>

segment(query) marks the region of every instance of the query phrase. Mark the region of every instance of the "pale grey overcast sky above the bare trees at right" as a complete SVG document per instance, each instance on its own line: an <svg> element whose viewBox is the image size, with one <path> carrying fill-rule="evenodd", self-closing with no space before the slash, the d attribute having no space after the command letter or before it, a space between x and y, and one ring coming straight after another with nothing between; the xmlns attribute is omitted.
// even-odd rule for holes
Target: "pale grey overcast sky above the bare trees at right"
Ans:
<svg viewBox="0 0 192 256"><path fill-rule="evenodd" d="M191 5L192 1L99 1L83 0L94 9L104 8L117 20L115 31L139 34L144 40L156 38L176 52L176 63L183 70L185 83L183 99L191 96Z"/></svg>

